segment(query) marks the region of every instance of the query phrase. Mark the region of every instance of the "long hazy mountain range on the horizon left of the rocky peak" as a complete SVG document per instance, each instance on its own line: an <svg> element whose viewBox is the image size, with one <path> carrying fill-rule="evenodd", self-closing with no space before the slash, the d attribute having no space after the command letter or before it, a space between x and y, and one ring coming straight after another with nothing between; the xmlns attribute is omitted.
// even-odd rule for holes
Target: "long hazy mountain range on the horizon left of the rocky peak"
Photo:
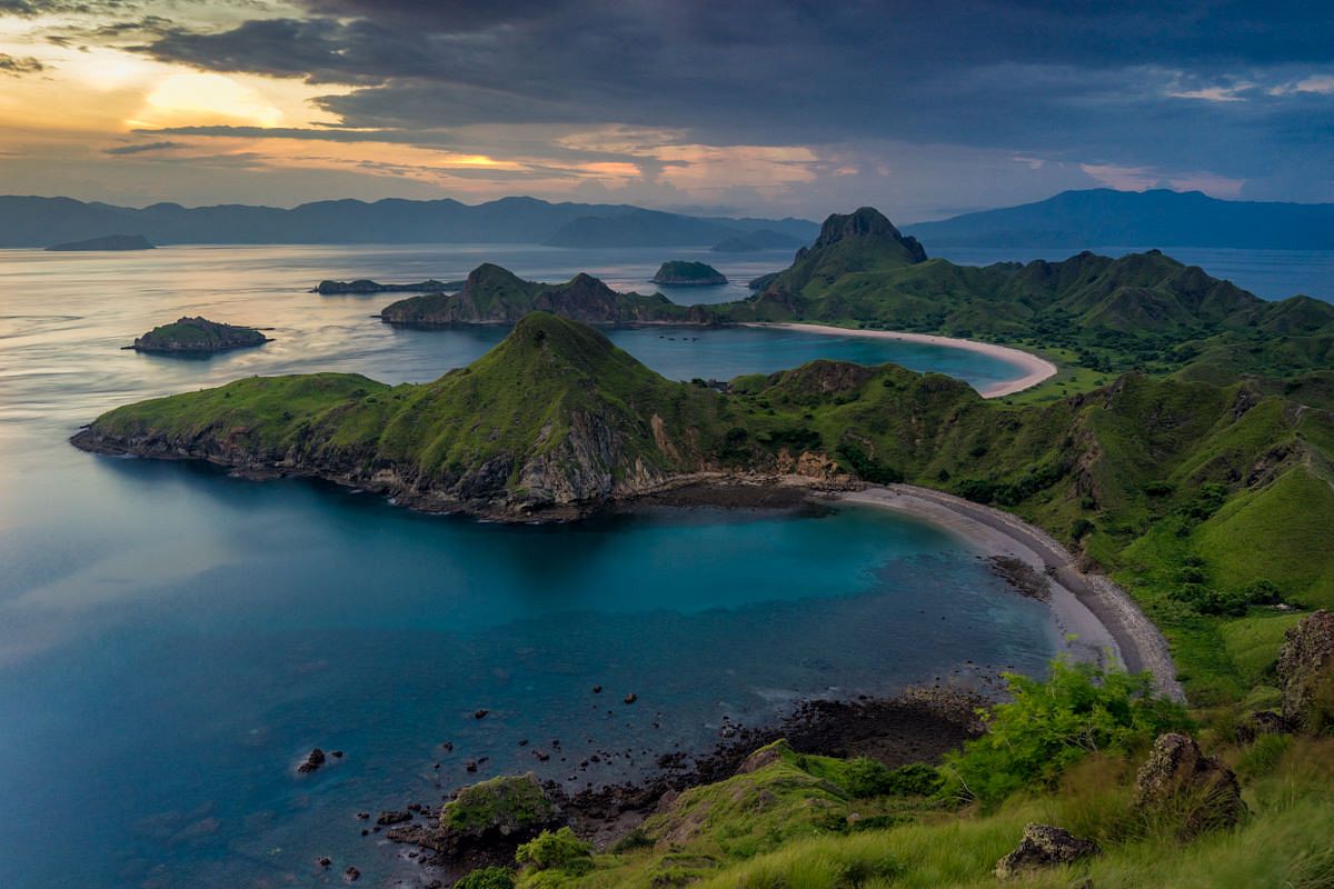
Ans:
<svg viewBox="0 0 1334 889"><path fill-rule="evenodd" d="M223 204L141 209L71 197L0 196L0 247L49 247L108 235L143 235L153 244L552 244L558 247L707 247L774 231L808 241L819 231L800 219L698 217L627 204L550 204L504 197L317 201L292 209Z"/></svg>

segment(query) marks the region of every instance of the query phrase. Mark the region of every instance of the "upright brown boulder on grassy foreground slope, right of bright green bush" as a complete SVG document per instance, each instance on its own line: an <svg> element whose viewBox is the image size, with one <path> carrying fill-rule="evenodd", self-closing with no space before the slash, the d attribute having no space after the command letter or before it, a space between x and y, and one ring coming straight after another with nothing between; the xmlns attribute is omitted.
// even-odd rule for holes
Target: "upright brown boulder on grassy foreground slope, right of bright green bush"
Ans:
<svg viewBox="0 0 1334 889"><path fill-rule="evenodd" d="M1230 826L1246 814L1233 770L1205 756L1193 737L1177 732L1161 736L1139 768L1135 808L1179 817L1186 837Z"/></svg>

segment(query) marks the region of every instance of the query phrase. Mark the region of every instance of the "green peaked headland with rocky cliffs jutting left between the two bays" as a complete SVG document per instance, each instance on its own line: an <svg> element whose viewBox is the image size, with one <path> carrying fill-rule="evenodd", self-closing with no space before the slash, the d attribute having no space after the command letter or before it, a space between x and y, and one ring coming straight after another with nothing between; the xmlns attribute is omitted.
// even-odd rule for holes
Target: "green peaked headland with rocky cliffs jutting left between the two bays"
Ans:
<svg viewBox="0 0 1334 889"><path fill-rule="evenodd" d="M431 384L251 377L112 411L75 444L315 474L432 510L578 514L699 469L719 399L535 313Z"/></svg>

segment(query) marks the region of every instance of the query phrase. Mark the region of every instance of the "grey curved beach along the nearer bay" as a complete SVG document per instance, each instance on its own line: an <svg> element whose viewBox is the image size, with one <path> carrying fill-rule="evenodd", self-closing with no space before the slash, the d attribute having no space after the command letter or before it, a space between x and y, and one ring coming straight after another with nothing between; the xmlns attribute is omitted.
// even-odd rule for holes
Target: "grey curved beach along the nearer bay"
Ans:
<svg viewBox="0 0 1334 889"><path fill-rule="evenodd" d="M1119 661L1154 674L1159 693L1185 701L1177 668L1158 628L1101 574L1086 574L1065 546L1010 513L914 485L870 486L836 494L846 502L895 509L956 533L983 556L1011 556L1050 580L1049 605L1071 656Z"/></svg>

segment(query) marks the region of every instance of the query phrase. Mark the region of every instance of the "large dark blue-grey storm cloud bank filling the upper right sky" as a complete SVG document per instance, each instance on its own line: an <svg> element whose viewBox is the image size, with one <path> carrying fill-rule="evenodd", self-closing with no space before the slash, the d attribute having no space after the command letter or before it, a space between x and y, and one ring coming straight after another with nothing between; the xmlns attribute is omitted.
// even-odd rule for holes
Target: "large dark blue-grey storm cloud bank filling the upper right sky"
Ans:
<svg viewBox="0 0 1334 889"><path fill-rule="evenodd" d="M304 16L177 27L136 49L352 85L319 104L404 133L615 123L707 144L888 139L1230 176L1330 151L1334 96L1279 88L1334 69L1323 0L297 3Z"/></svg>

